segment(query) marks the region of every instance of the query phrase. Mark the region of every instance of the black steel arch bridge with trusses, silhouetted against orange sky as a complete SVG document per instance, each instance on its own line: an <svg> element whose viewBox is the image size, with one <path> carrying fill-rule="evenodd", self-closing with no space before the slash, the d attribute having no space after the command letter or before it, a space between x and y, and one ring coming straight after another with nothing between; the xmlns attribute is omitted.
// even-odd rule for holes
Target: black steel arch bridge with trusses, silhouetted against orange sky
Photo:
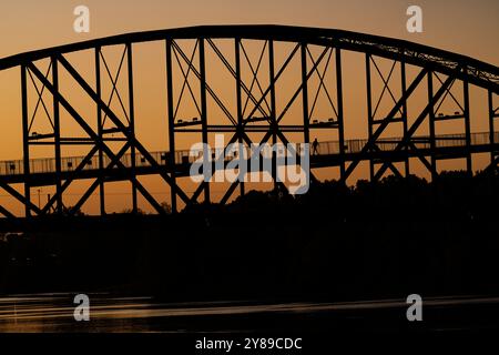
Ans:
<svg viewBox="0 0 499 355"><path fill-rule="evenodd" d="M186 53L180 41L192 40L195 42L193 53ZM215 40L230 40L234 42L230 54L221 50L215 43ZM251 63L251 60L245 53L243 41L256 40L265 43L259 61L265 57L267 61L267 71L264 74L268 79L268 84L259 88L259 93L255 93L253 89L255 85L261 87L258 81L259 63ZM169 112L165 114L169 122L169 150L164 152L150 152L136 139L134 133L134 97L133 97L133 45L143 42L164 41L165 52L164 60L166 65L165 87L167 92L167 108ZM286 60L281 65L277 65L274 52L274 44L278 42L289 43L293 48L291 53L285 55ZM128 110L123 108L123 114L114 112L105 99L102 97L100 88L101 75L104 74L105 59L102 54L102 49L105 47L122 45L123 55L121 64L124 63L128 68L128 83L124 88L118 88L116 82L113 82L113 92L119 89L128 92ZM309 51L309 47L315 45L320 49L317 57L314 57ZM224 63L226 70L234 79L234 93L237 97L237 108L230 110L225 104L223 98L211 88L206 80L206 72L210 71L208 63L205 60L207 49L212 50L217 58ZM95 53L95 61L92 63L95 71L95 83L91 84L67 59L67 54L78 53L91 50ZM368 139L357 140L355 142L345 140L344 122L345 114L344 105L344 90L342 77L342 53L345 51L353 51L364 53L365 71L366 71L366 93L367 93L367 125ZM265 55L264 55L265 54ZM231 55L231 60L227 57ZM252 80L244 81L241 73L242 62L245 60L252 67ZM194 58L196 58L194 60ZM390 91L390 75L384 77L376 64L375 59L383 58L394 62L400 70L400 82L397 85L401 87L400 95L397 97ZM276 83L281 74L286 70L288 63L298 59L301 61L301 72L296 73L299 77L299 84L294 90L291 103L285 104L282 112L276 108ZM47 73L43 73L38 67L37 61L49 60L50 67ZM173 65L177 60L183 63L182 70L183 82L175 82L173 78ZM327 62L327 63L326 63ZM335 80L325 83L324 72L318 68L320 64L334 67L332 70L335 73ZM120 68L121 68L120 64ZM414 65L419 68L419 72L413 81L407 82L405 74L406 65ZM132 182L133 209L136 210L136 195L141 193L151 205L159 212L163 213L163 209L147 191L147 189L136 179L140 174L159 174L171 186L172 209L177 210L176 204L179 199L185 203L197 203L201 195L204 195L204 201L211 201L210 183L201 183L195 192L189 196L182 191L176 180L185 174L185 166L183 168L182 154L175 153L177 151L175 142L176 136L181 133L200 133L200 141L207 142L207 135L211 133L230 133L230 142L241 142L245 144L253 143L249 133L262 133L263 139L257 143L267 141L288 142L286 133L303 134L303 142L309 142L310 130L332 130L337 136L337 142L330 142L326 145L328 154L318 154L324 156L315 156L312 160L313 168L320 166L339 166L340 179L346 181L356 170L358 164L366 160L369 161L370 178L376 180L389 170L395 174L401 174L395 163L405 163L405 173L410 173L409 158L417 158L430 171L431 175L437 175L437 160L441 158L464 158L467 161L467 170L472 173L471 159L472 154L487 152L490 154L490 165L487 169L497 169L498 163L498 144L499 138L496 132L496 122L499 116L498 108L495 105L495 99L499 93L499 68L490 63L476 60L470 57L452 53L449 51L413 43L398 39L390 39L377 37L371 34L356 33L349 31L334 30L334 29L317 29L317 28L302 28L302 27L286 27L286 26L203 26L182 29L167 29L157 31L146 31L120 34L102 39L84 41L80 43L65 44L49 49L42 49L21 53L4 58L0 60L0 71L19 68L21 71L21 98L22 98L22 125L23 125L23 161L6 163L4 172L0 170L0 187L6 190L17 200L21 201L26 206L26 215L31 214L43 215L50 213L53 207L58 213L63 213L64 203L63 195L67 189L74 180L78 179L94 179L91 187L82 195L80 201L73 206L71 213L75 213L88 201L90 195L100 189L101 213L104 213L104 183L108 180L130 180ZM70 100L65 98L59 88L59 71L65 70L72 79L80 85L85 94L94 102L98 108L98 120L103 116L109 118L114 124L111 130L104 129L102 122L98 122L98 130L91 128L85 118L71 105ZM327 67L326 67L327 70ZM109 72L109 70L108 70ZM183 122L175 115L176 108L182 100L175 102L173 92L182 87L182 92L191 91L193 89L189 85L190 73L194 75L200 87L196 98L196 106L198 110L198 118L192 122ZM444 77L439 77L439 74ZM118 72L120 75L120 72ZM371 78L379 75L383 81L384 94L391 95L393 106L384 116L376 116L376 99L373 95ZM111 75L110 75L111 77ZM329 98L329 102L334 109L335 115L324 122L315 122L313 120L310 110L314 111L315 93L309 93L308 84L310 78L315 77L318 81L318 92L325 91ZM41 88L37 88L37 93L41 98L40 91L47 90L50 92L53 102L53 132L47 134L34 134L30 131L30 121L34 118L29 112L28 106L28 90L29 80L35 78ZM256 84L255 84L256 78ZM112 79L112 78L111 78ZM456 81L462 84L462 98L456 99L452 95L451 89ZM33 81L34 83L34 81ZM186 84L187 83L187 84ZM428 92L428 101L422 110L416 112L414 122L409 124L407 101L414 94L418 87L426 83ZM363 83L364 84L364 83ZM482 88L488 92L488 121L489 130L487 132L472 133L470 125L470 99L469 85ZM185 89L187 87L187 89ZM334 100L329 92L335 93ZM246 102L253 103L253 109L243 112L244 103L242 97L245 95ZM303 116L299 124L281 124L283 116L286 114L291 104L302 97ZM315 97L315 100L314 100ZM439 103L445 99L454 99L462 109L459 112L450 115L438 115ZM163 99L163 98L162 98ZM207 114L207 101L214 100L220 109L225 114L227 124L211 124ZM379 98L380 100L381 98ZM379 101L378 101L379 104ZM266 109L264 109L266 106ZM61 136L60 133L60 114L59 110L65 109L74 121L85 131L86 136L79 140ZM255 115L259 114L259 118ZM462 120L465 129L461 134L454 135L438 135L435 125L438 121L444 120ZM428 136L417 136L415 133L424 122L429 122ZM403 136L397 139L387 139L383 134L385 130L393 123L401 123L404 125ZM116 152L108 145L111 141L111 134L120 134L123 138L123 146ZM52 171L37 171L37 164L30 160L30 149L34 145L41 144L53 145L54 159ZM63 158L61 155L61 146L64 144L88 144L91 150L86 156L71 160L71 158ZM355 145L355 146L354 146ZM327 156L326 156L327 155ZM129 158L126 158L129 156ZM71 169L64 163L70 163ZM141 161L144 161L146 166L142 166ZM189 161L186 163L190 163ZM98 166L95 171L89 169ZM13 169L12 169L13 166ZM376 168L378 169L376 170ZM184 169L184 170L183 170ZM314 180L314 176L312 175ZM11 185L14 183L24 184L24 192L20 193ZM44 206L37 206L32 203L30 190L40 184L51 184L57 189L57 193ZM244 183L237 182L231 184L226 193L221 199L225 203L240 187L241 193L244 193ZM6 209L0 206L0 213L12 216Z"/></svg>

